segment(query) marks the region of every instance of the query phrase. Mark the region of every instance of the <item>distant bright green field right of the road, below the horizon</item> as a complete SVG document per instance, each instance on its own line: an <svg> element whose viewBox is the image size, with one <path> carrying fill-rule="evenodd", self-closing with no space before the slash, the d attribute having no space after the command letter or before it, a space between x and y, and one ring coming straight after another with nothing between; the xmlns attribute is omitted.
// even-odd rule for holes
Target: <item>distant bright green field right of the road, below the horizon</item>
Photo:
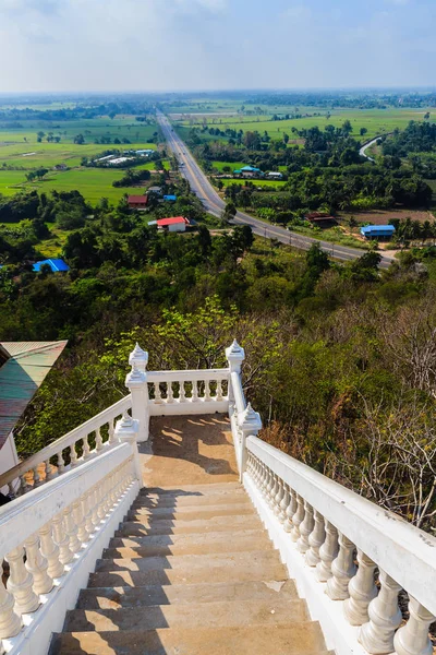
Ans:
<svg viewBox="0 0 436 655"><path fill-rule="evenodd" d="M288 111L290 111L290 108L288 108ZM316 108L311 108L310 114L313 114L314 111L316 111ZM432 114L432 108L429 108L428 111L431 111L431 120L436 121L436 112L433 111ZM267 132L271 139L280 139L283 132L292 138L293 127L298 130L307 129L315 126L324 129L327 124L340 127L344 120L350 120L353 127L353 136L361 139L360 129L366 128L367 133L365 134L365 139L371 139L377 134L391 132L395 128L404 129L410 120L423 120L426 109L338 109L331 111L331 117L329 119L326 118L325 109L319 110L319 112L322 112L322 116L311 116L307 118L280 121L265 120L264 115L258 117L222 116L208 119L207 124L209 127L219 127L222 130L226 128L234 130L242 129L244 131L256 130L262 134ZM174 121L174 124L179 128L182 128L181 133L187 131L192 127L190 121L186 120ZM196 124L197 127L202 127L203 118L199 118ZM216 136L213 139L216 139Z"/></svg>

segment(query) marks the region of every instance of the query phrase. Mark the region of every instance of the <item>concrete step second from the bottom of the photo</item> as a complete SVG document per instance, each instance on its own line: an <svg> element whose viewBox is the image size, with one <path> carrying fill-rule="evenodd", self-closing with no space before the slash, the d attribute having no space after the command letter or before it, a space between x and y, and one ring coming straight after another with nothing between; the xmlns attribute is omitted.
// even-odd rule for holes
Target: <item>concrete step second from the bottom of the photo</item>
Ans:
<svg viewBox="0 0 436 655"><path fill-rule="evenodd" d="M185 605L149 605L121 609L72 609L65 632L136 632L159 628L238 628L286 626L310 619L306 604L294 599L219 600Z"/></svg>

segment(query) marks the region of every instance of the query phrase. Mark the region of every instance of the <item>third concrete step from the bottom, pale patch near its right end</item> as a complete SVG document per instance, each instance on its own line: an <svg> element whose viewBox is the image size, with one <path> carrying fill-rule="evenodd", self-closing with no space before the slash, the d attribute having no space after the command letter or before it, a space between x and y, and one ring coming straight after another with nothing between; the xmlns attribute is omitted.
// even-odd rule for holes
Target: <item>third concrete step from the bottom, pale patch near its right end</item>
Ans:
<svg viewBox="0 0 436 655"><path fill-rule="evenodd" d="M138 587L102 587L82 590L77 609L119 609L149 605L185 605L215 603L223 598L232 602L281 602L298 598L292 580L262 582L204 582L201 584L146 585Z"/></svg>

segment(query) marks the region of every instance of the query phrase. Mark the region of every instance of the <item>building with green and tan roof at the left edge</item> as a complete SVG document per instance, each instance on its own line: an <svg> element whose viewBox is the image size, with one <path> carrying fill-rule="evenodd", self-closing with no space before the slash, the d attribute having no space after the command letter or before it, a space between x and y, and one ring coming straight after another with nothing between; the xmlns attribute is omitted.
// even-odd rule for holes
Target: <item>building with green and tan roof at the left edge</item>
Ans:
<svg viewBox="0 0 436 655"><path fill-rule="evenodd" d="M0 343L0 475L19 463L13 429L66 343Z"/></svg>

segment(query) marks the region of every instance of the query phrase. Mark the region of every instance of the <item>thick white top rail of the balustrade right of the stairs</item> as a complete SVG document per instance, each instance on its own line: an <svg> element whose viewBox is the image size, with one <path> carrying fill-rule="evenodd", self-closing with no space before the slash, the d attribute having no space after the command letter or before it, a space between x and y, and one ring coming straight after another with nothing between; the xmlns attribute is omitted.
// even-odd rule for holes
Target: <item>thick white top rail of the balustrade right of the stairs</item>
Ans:
<svg viewBox="0 0 436 655"><path fill-rule="evenodd" d="M358 548L436 614L436 538L269 445L249 437L252 453Z"/></svg>

